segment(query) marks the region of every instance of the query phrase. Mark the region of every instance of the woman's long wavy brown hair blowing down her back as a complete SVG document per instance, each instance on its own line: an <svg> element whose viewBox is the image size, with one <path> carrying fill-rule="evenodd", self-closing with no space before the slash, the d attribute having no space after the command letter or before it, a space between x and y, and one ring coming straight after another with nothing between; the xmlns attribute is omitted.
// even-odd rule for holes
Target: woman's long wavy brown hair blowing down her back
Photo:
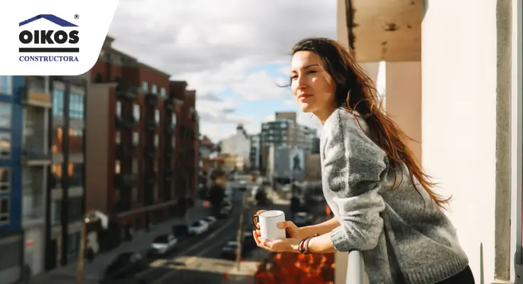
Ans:
<svg viewBox="0 0 523 284"><path fill-rule="evenodd" d="M356 120L361 116L369 126L369 136L389 158L392 168L401 168L406 165L412 182L418 180L426 190L430 199L439 208L448 204L450 197L443 197L433 192L435 182L421 168L413 151L405 141L412 140L404 133L392 119L386 115L381 102L376 97L376 87L371 78L354 60L352 55L334 40L329 38L305 38L292 48L292 55L298 51L310 51L322 59L324 69L336 83L334 101L337 107L343 107L349 112L357 111ZM361 126L360 126L361 127ZM395 172L396 173L396 172ZM394 185L396 187L396 174ZM417 190L417 189L416 189Z"/></svg>

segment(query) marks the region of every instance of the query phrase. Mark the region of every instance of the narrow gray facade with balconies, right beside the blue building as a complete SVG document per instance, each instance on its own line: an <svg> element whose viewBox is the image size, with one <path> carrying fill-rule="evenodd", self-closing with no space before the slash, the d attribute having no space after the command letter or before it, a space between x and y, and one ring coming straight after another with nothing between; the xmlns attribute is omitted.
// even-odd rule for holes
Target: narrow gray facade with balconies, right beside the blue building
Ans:
<svg viewBox="0 0 523 284"><path fill-rule="evenodd" d="M51 165L49 126L52 99L49 77L24 78L21 92L23 259L31 274L45 270L46 208Z"/></svg>

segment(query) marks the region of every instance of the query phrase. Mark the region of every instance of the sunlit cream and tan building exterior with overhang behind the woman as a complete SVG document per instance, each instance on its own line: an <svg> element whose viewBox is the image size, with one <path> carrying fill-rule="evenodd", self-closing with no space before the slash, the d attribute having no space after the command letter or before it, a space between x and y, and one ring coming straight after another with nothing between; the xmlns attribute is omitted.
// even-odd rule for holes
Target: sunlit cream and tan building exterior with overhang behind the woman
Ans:
<svg viewBox="0 0 523 284"><path fill-rule="evenodd" d="M521 1L337 4L337 39L375 82L384 75L387 113L452 195L447 214L476 281L520 283ZM345 268L337 253L336 283Z"/></svg>

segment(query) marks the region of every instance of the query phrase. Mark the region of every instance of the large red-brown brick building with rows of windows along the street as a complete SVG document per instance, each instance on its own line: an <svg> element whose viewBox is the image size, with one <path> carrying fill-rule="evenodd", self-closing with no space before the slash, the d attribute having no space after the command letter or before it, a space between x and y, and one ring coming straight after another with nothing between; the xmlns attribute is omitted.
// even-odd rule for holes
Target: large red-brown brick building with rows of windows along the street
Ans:
<svg viewBox="0 0 523 284"><path fill-rule="evenodd" d="M196 189L188 159L197 148L187 138L198 130L196 98L186 83L112 48L113 40L91 70L86 207L144 229L183 215Z"/></svg>

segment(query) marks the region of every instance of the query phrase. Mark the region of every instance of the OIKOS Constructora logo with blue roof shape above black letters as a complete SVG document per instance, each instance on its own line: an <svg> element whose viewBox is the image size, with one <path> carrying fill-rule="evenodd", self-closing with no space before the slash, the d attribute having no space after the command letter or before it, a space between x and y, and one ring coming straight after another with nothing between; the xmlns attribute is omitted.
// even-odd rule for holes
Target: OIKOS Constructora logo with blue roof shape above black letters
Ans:
<svg viewBox="0 0 523 284"><path fill-rule="evenodd" d="M75 15L78 18L78 15ZM63 18L52 14L40 14L19 23L19 27L24 27L35 21L48 21L56 26L56 29L24 29L19 33L19 41L23 47L19 48L22 62L78 62L75 53L80 53L78 42L78 25L66 21ZM40 26L41 23L39 23ZM48 26L48 25L46 25ZM30 47L29 47L30 46ZM41 53L41 55L36 55ZM49 55L49 53L63 53L61 55Z"/></svg>

